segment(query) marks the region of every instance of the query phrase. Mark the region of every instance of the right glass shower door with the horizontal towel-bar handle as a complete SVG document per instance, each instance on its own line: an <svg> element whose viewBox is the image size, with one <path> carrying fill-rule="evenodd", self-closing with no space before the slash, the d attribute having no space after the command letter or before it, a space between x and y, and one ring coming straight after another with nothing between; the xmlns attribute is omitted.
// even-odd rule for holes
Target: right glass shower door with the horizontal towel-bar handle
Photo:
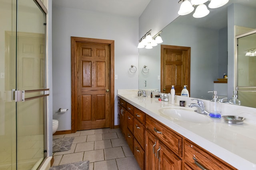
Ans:
<svg viewBox="0 0 256 170"><path fill-rule="evenodd" d="M46 152L46 14L31 0L18 0L17 9L17 169L31 170Z"/></svg>

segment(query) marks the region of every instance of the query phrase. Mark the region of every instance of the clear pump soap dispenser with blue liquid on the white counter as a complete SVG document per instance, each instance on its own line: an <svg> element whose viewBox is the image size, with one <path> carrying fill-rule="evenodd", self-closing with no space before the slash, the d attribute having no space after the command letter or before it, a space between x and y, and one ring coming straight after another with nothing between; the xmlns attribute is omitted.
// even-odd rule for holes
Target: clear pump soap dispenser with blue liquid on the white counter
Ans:
<svg viewBox="0 0 256 170"><path fill-rule="evenodd" d="M212 91L211 91L212 92ZM221 117L221 103L218 100L217 91L213 91L212 100L210 101L210 117Z"/></svg>

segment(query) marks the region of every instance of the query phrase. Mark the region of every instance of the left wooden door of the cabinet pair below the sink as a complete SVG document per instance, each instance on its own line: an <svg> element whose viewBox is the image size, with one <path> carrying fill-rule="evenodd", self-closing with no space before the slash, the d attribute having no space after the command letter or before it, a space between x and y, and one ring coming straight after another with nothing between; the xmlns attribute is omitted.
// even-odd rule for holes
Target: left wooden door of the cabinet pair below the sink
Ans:
<svg viewBox="0 0 256 170"><path fill-rule="evenodd" d="M146 130L145 136L145 169L156 170L156 145L158 145L158 139Z"/></svg>

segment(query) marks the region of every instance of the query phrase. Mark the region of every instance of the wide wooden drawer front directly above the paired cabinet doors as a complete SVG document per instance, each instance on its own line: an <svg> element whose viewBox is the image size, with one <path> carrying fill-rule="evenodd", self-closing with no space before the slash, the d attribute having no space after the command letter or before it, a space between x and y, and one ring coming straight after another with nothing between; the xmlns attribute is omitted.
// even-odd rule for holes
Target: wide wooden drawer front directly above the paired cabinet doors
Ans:
<svg viewBox="0 0 256 170"><path fill-rule="evenodd" d="M180 135L148 115L146 115L145 126L175 154L182 157L183 138Z"/></svg>

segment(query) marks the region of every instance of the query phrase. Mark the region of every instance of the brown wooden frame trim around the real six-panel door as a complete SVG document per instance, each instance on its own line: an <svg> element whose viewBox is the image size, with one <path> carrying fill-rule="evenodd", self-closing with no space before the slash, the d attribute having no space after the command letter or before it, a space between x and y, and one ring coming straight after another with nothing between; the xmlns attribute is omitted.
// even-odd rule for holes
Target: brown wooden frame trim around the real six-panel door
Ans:
<svg viewBox="0 0 256 170"><path fill-rule="evenodd" d="M94 39L94 38L83 38L83 37L71 37L71 75L76 74L76 57L75 57L75 46L77 42L83 43L99 43L110 45L110 128L114 128L114 40L107 39ZM71 76L71 133L77 131L77 76Z"/></svg>

